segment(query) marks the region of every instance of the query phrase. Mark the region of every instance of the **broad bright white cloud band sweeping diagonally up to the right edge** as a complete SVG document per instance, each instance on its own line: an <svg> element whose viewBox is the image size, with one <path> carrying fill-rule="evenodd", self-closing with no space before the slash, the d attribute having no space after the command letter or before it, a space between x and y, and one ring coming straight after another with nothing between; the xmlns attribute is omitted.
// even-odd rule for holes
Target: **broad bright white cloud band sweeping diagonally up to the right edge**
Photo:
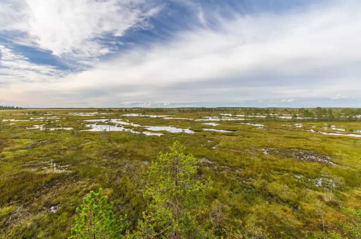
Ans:
<svg viewBox="0 0 361 239"><path fill-rule="evenodd" d="M361 59L358 47L361 31L357 30L361 17L352 14L357 8L360 4L331 7L323 9L321 16L319 10L314 10L296 16L238 16L234 21L219 19L222 22L219 31L195 29L181 32L172 42L155 44L150 49L134 49L112 62L78 74L71 81L79 86L85 83L84 79L87 79L87 84L97 84L97 79L107 75L111 82L117 81L114 83L119 85L165 86L240 75L256 74L259 77L262 71L266 71L265 74L282 74L289 78L290 84L295 81L309 83L296 90L300 92L297 96L307 97L313 93L307 94L305 89L309 91L315 87L314 79L308 79L307 74ZM354 37L350 38L351 35ZM119 75L125 80L118 79ZM356 82L359 80L356 76L350 75L343 81ZM327 82L332 84L338 80L339 76L324 81L320 79L321 84L317 84L315 90L322 87L327 95L330 85ZM277 81L274 83L278 84ZM253 86L264 88L257 86L257 82ZM279 86L287 89L283 84Z"/></svg>

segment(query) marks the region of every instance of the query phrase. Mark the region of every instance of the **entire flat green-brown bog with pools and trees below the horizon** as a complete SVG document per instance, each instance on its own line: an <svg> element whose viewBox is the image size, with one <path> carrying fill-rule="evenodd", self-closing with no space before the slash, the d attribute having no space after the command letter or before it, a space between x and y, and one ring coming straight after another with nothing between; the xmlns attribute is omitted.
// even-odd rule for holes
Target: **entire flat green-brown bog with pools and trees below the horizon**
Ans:
<svg viewBox="0 0 361 239"><path fill-rule="evenodd" d="M359 238L360 114L1 110L0 237L67 238L92 227L94 238ZM75 209L90 191L97 204L99 190L113 216L82 227Z"/></svg>

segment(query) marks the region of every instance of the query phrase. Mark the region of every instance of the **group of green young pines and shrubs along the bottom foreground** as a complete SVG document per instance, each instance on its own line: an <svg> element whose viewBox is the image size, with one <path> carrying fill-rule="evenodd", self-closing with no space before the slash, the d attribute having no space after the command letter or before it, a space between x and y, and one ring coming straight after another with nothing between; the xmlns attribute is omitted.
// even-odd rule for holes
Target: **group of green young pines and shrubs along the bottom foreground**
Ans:
<svg viewBox="0 0 361 239"><path fill-rule="evenodd" d="M127 230L126 216L115 218L113 203L107 203L103 190L91 191L76 210L78 217L69 238L218 238L214 234L217 213L212 214L210 226L202 225L207 210L204 198L212 183L197 178L196 162L193 155L184 155L184 147L178 142L170 147L170 152L160 152L158 161L149 167L149 179L154 184L146 187L144 193L149 199L147 210L132 232ZM212 208L218 208L217 203ZM253 219L247 221L245 230L226 227L225 235L235 239L268 238L266 230L256 227Z"/></svg>

